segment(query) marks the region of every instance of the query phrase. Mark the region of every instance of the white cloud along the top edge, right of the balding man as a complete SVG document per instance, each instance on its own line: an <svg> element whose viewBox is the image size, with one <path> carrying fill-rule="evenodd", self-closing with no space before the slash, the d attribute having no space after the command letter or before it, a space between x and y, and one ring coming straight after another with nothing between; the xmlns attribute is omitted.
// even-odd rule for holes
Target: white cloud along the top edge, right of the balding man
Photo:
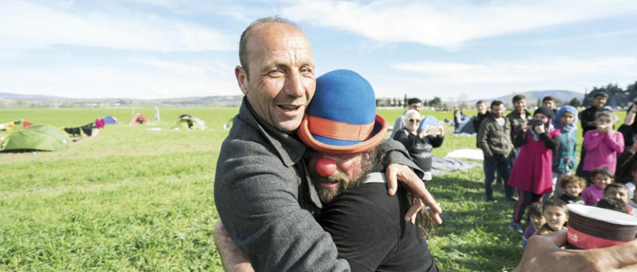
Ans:
<svg viewBox="0 0 637 272"><path fill-rule="evenodd" d="M282 8L299 22L352 31L385 42L453 49L482 37L550 27L637 10L636 1L300 1Z"/></svg>

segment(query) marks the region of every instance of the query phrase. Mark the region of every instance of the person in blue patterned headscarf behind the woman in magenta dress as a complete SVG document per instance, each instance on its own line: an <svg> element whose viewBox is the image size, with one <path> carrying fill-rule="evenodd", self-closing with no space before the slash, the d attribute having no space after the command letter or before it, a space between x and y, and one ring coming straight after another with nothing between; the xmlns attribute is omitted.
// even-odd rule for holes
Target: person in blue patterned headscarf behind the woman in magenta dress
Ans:
<svg viewBox="0 0 637 272"><path fill-rule="evenodd" d="M560 130L559 147L553 153L553 196L559 198L564 189L555 186L562 176L568 175L575 167L575 146L577 145L577 109L570 105L560 107L553 116L553 126Z"/></svg>

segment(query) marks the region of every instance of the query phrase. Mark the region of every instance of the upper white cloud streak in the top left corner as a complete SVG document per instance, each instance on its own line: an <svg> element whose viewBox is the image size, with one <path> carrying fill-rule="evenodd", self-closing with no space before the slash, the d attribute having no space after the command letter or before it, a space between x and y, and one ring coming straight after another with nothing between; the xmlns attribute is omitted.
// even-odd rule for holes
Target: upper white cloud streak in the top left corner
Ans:
<svg viewBox="0 0 637 272"><path fill-rule="evenodd" d="M65 4L64 6L69 6ZM237 35L146 13L80 13L8 1L0 9L0 48L51 44L127 50L236 50Z"/></svg>

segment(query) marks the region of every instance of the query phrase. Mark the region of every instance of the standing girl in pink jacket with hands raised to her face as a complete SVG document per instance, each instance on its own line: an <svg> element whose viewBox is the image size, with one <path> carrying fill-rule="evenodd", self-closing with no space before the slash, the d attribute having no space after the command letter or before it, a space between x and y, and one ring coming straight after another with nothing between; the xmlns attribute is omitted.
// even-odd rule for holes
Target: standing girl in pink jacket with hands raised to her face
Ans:
<svg viewBox="0 0 637 272"><path fill-rule="evenodd" d="M585 175L589 178L590 171L606 167L611 173L615 173L617 166L617 153L624 151L624 136L620 132L613 131L615 115L610 111L600 111L596 118L597 129L589 130L584 134L584 158Z"/></svg>

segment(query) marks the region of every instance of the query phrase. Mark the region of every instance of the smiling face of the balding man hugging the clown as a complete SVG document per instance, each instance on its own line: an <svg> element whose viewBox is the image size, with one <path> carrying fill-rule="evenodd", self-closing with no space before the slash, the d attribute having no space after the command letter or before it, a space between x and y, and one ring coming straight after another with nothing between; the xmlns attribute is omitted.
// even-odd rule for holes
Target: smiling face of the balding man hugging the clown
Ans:
<svg viewBox="0 0 637 272"><path fill-rule="evenodd" d="M248 74L235 74L254 111L284 132L301 124L316 88L310 40L297 27L267 24L247 38Z"/></svg>

